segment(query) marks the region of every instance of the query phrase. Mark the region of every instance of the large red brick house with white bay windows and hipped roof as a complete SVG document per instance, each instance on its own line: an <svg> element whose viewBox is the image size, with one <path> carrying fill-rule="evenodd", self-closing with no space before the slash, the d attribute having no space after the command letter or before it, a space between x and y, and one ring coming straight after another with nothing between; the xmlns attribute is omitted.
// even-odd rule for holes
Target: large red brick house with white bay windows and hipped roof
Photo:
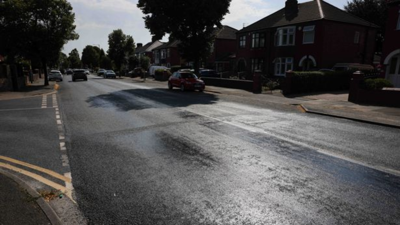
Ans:
<svg viewBox="0 0 400 225"><path fill-rule="evenodd" d="M286 70L372 64L377 26L322 0L287 0L277 12L236 33L236 68L284 76ZM242 75L241 75L242 76Z"/></svg>

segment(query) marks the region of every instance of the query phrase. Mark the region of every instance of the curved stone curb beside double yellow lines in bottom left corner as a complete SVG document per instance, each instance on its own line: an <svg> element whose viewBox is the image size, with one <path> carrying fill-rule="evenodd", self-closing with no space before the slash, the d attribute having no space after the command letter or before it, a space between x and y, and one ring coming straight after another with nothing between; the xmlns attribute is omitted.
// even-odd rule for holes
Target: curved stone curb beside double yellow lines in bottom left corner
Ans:
<svg viewBox="0 0 400 225"><path fill-rule="evenodd" d="M34 198L36 199L36 203L39 205L39 207L42 209L46 217L50 220L50 223L52 225L63 225L60 217L56 214L56 212L52 209L52 207L49 205L48 202L46 202L42 197L40 197L39 193L30 187L25 181L23 181L21 178L3 170L0 169L0 173L4 174L6 177L9 177L10 179L14 180L18 185L20 185L22 188L26 189L26 191Z"/></svg>

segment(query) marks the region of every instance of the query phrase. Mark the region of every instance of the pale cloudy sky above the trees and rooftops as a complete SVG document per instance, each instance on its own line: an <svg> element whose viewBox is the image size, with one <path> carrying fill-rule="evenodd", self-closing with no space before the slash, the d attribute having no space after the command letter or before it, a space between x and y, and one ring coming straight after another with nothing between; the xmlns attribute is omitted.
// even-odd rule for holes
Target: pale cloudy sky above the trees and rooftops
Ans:
<svg viewBox="0 0 400 225"><path fill-rule="evenodd" d="M310 0L298 0L299 3ZM325 0L343 9L348 0ZM64 52L68 55L76 48L82 54L86 45L100 46L108 50L108 34L122 29L124 34L131 35L135 43L146 44L151 41L150 32L144 27L141 10L136 7L138 0L69 0L75 13L75 31L79 39L69 41ZM223 25L240 30L243 25L252 24L265 16L283 8L285 0L232 0L229 14L226 14ZM167 41L164 37L162 41Z"/></svg>

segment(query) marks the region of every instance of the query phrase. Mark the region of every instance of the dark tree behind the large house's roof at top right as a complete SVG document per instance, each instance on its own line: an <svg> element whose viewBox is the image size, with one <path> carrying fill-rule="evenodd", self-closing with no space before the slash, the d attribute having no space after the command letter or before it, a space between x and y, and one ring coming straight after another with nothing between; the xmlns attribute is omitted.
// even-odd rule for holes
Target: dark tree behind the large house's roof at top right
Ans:
<svg viewBox="0 0 400 225"><path fill-rule="evenodd" d="M376 50L377 52L382 52L382 42L388 17L387 0L352 0L347 2L344 10L379 26L376 37Z"/></svg>

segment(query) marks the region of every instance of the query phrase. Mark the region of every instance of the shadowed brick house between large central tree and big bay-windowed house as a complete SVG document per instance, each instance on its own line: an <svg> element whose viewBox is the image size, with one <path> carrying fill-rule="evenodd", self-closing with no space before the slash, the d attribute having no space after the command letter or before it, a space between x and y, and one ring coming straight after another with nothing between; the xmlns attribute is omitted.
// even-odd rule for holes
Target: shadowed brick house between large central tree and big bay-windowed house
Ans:
<svg viewBox="0 0 400 225"><path fill-rule="evenodd" d="M230 26L216 28L206 67L218 72L232 71L232 55L236 52L236 30Z"/></svg>

